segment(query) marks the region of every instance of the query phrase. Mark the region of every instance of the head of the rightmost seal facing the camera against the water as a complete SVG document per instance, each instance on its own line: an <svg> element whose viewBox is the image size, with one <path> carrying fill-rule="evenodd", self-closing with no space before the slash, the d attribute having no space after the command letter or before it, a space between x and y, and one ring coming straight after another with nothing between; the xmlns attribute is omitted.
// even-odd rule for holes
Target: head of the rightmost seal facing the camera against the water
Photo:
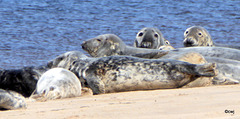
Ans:
<svg viewBox="0 0 240 119"><path fill-rule="evenodd" d="M208 31L200 26L192 26L184 32L183 45L185 47L193 46L214 46L213 40Z"/></svg>

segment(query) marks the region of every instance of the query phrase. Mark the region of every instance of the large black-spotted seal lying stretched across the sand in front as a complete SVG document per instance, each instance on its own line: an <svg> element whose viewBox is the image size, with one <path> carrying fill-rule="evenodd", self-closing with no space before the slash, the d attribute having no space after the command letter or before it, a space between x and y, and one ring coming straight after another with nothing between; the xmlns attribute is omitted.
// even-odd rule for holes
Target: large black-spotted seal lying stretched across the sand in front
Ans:
<svg viewBox="0 0 240 119"><path fill-rule="evenodd" d="M82 56L81 52L72 53ZM60 62L59 57L56 59L61 65L72 59L69 58L70 55L61 56L68 56L61 57ZM58 66L55 60L49 63L54 64L54 67ZM196 78L216 74L214 63L191 64L171 59L142 59L131 56L84 57L73 61L71 65L62 66L78 72L93 90L93 94L179 88Z"/></svg>

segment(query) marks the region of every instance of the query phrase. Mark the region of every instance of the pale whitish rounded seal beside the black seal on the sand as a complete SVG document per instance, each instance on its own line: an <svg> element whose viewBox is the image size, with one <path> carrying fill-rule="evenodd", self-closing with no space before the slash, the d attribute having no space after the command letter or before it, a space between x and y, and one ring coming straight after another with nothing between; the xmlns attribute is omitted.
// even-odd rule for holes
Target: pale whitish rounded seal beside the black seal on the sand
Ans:
<svg viewBox="0 0 240 119"><path fill-rule="evenodd" d="M77 97L81 95L81 89L74 73L63 68L52 68L40 77L31 97L41 101Z"/></svg>

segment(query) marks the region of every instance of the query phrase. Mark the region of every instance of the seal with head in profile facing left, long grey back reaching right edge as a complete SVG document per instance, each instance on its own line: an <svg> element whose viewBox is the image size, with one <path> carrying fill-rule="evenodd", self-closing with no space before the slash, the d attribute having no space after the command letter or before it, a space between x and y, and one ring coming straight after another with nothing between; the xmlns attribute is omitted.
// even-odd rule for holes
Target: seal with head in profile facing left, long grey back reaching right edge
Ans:
<svg viewBox="0 0 240 119"><path fill-rule="evenodd" d="M196 52L203 57L219 57L232 60L240 60L240 50L226 47L187 47L174 50L157 50L146 48L133 48L114 34L99 35L82 43L83 50L93 57L113 55L130 55L143 58L171 57L172 55ZM142 55L141 55L142 54Z"/></svg>

